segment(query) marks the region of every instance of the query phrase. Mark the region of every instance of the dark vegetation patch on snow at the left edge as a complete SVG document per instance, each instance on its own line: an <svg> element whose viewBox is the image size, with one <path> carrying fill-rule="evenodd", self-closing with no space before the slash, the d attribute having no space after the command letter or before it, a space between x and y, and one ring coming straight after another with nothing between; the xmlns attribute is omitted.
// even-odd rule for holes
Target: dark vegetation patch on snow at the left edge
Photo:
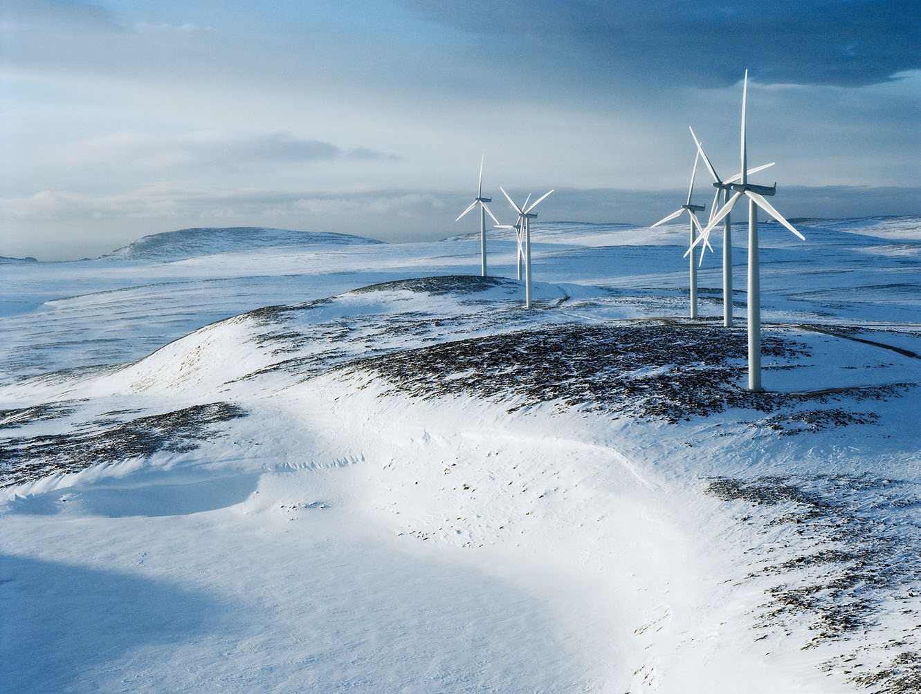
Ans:
<svg viewBox="0 0 921 694"><path fill-rule="evenodd" d="M215 402L140 417L93 434L7 438L0 448L0 488L158 451L191 451L216 435L215 424L245 414L238 405Z"/></svg>

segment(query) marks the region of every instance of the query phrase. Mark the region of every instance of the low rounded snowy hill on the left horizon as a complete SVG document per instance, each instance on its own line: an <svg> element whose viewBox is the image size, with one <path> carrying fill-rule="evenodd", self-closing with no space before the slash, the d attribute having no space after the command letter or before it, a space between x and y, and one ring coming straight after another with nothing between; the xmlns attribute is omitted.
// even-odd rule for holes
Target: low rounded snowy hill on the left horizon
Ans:
<svg viewBox="0 0 921 694"><path fill-rule="evenodd" d="M103 256L116 260L181 260L228 250L266 249L286 246L344 246L381 243L350 234L269 229L260 226L228 226L179 229L142 237Z"/></svg>

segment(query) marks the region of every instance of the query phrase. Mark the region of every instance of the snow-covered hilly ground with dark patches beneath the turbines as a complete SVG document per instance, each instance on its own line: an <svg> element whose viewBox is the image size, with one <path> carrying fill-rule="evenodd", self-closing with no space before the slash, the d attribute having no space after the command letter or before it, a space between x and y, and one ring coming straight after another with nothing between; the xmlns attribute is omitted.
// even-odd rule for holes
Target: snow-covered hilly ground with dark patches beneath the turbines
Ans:
<svg viewBox="0 0 921 694"><path fill-rule="evenodd" d="M0 690L921 689L921 217L798 226L762 395L741 226L4 263Z"/></svg>

